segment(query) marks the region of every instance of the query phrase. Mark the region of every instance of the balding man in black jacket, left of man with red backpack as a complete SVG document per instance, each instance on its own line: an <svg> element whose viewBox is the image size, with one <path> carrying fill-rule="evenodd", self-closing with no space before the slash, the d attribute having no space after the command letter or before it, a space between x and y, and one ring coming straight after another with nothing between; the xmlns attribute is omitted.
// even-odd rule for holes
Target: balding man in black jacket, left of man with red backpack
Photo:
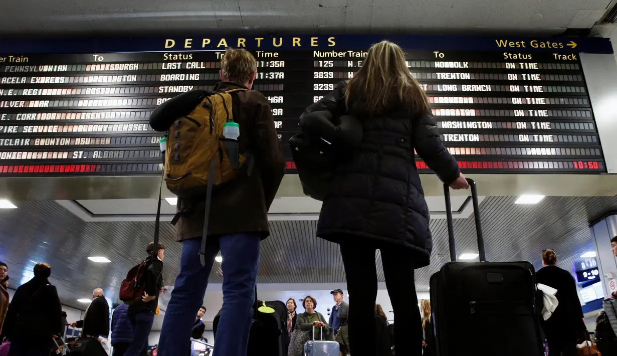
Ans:
<svg viewBox="0 0 617 356"><path fill-rule="evenodd" d="M98 339L109 336L109 304L101 288L92 292L92 302L86 308L83 320L70 323L73 328L82 328L81 335Z"/></svg>

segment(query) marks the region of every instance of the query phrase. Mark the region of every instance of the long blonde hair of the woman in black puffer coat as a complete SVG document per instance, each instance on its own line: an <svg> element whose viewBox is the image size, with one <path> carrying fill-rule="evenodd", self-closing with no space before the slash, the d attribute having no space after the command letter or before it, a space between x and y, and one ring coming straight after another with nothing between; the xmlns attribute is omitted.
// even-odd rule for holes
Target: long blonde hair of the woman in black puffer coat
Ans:
<svg viewBox="0 0 617 356"><path fill-rule="evenodd" d="M426 94L407 68L405 53L390 41L368 49L362 68L347 83L345 104L354 114L370 116L401 105L413 113L430 111Z"/></svg>

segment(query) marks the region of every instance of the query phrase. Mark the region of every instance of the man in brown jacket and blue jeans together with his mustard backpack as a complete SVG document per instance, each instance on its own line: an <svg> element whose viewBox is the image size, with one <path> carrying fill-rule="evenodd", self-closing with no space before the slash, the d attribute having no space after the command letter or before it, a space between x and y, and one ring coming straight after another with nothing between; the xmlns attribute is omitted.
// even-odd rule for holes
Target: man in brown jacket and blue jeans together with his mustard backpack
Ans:
<svg viewBox="0 0 617 356"><path fill-rule="evenodd" d="M176 237L183 245L180 274L165 311L159 356L188 354L186 340L191 336L195 310L204 300L219 252L223 308L214 356L247 353L260 241L270 234L268 209L285 168L270 104L262 93L251 90L256 73L250 52L227 49L221 60L222 81L214 87L216 93L189 91L165 102L150 117L154 130L167 131L165 180L170 191L178 195L178 215L172 223L176 223ZM227 135L230 131L226 130L238 130L238 126L239 137ZM233 144L238 152L234 152ZM194 165L194 169L180 170L199 160L188 150L183 151L187 146L207 152L209 160ZM189 196L180 192L183 181L199 180L194 170L208 165L207 173L201 176L214 177L207 181L217 184L207 189L211 194ZM233 179L225 181L229 175Z"/></svg>

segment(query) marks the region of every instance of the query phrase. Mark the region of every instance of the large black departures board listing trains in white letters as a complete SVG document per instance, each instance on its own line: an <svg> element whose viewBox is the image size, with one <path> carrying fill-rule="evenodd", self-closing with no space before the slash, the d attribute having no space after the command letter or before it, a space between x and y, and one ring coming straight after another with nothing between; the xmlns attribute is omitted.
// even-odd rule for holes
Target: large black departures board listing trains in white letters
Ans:
<svg viewBox="0 0 617 356"><path fill-rule="evenodd" d="M246 46L257 60L253 89L270 101L288 173L300 114L362 66L370 43L348 46L343 37L312 37L321 41L315 48L292 46L291 36L286 46L276 46L279 37ZM152 110L179 93L212 90L225 47L242 48L239 39L238 46L200 41L161 39L151 51L0 54L0 176L160 174L162 134L148 125ZM462 171L605 173L579 55L568 52L568 41L544 50L499 41L482 51L399 41ZM416 167L430 172L420 157Z"/></svg>

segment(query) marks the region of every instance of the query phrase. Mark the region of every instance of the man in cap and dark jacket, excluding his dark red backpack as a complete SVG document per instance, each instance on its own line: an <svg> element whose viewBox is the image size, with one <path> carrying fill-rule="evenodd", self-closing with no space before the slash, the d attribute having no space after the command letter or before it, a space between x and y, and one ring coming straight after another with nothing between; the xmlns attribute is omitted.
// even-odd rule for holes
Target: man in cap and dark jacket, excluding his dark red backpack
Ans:
<svg viewBox="0 0 617 356"><path fill-rule="evenodd" d="M139 356L146 353L148 336L154 323L154 314L159 305L159 293L163 289L163 258L165 257L165 245L159 244L156 258L152 258L154 242L150 242L146 252L148 254L148 267L144 275L146 291L141 297L141 302L131 304L126 310L128 319L133 326L133 341L126 349L125 356Z"/></svg>

